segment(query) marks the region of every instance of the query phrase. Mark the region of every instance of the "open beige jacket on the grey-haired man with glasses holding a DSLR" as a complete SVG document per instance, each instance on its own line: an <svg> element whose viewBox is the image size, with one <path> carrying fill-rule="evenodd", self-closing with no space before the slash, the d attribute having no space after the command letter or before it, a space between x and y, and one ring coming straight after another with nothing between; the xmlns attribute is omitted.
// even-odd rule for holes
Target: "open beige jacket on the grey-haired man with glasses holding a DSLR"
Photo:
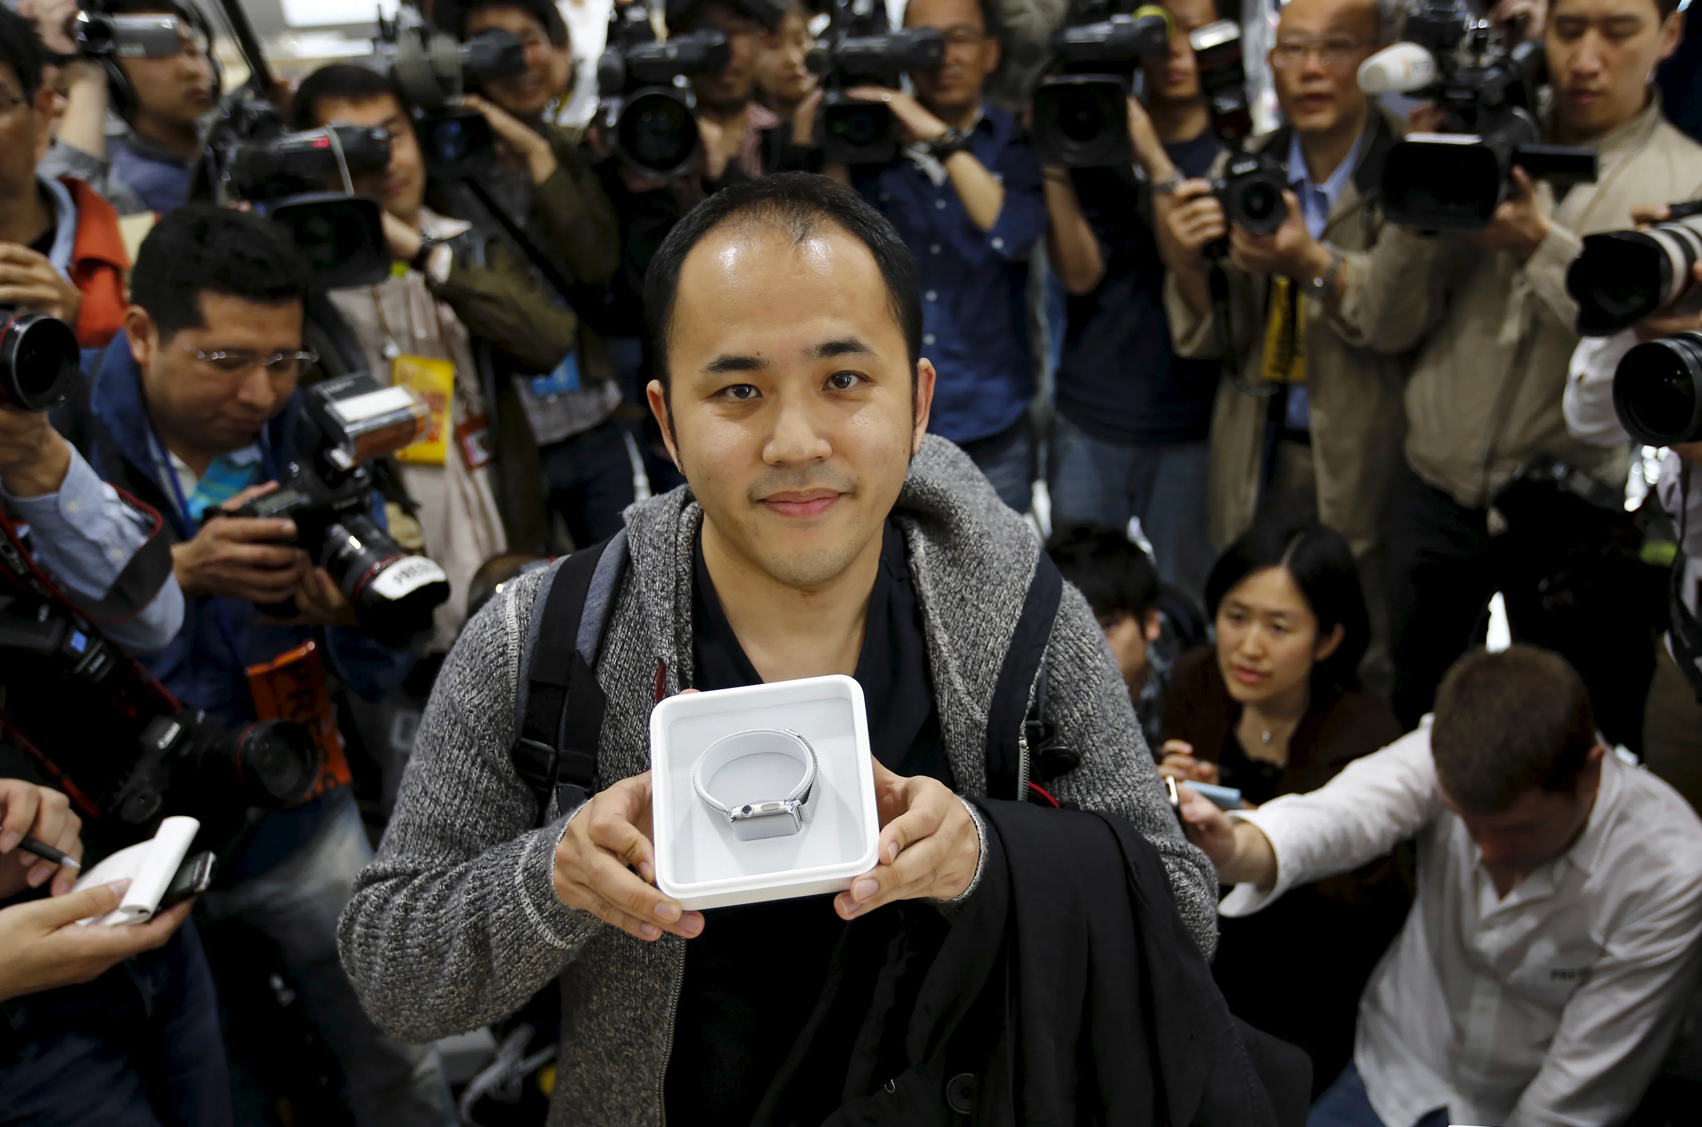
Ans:
<svg viewBox="0 0 1702 1127"><path fill-rule="evenodd" d="M1348 277L1379 242L1382 218L1368 192L1387 146L1399 136L1394 119L1374 117L1360 146L1355 175L1336 199L1322 240L1341 250ZM1288 145L1278 129L1265 143ZM1287 157L1287 153L1282 153ZM1215 174L1215 172L1214 172ZM1241 380L1219 385L1212 410L1210 536L1222 548L1253 524L1265 466L1265 420L1270 398L1248 388L1261 383L1266 276L1227 267L1231 347L1241 356ZM1346 536L1362 562L1382 541L1389 485L1401 456L1401 385L1404 356L1380 354L1350 306L1331 315L1305 296L1305 375L1312 410L1312 465L1319 519ZM1164 308L1179 356L1222 356L1215 317L1197 317L1171 274Z"/></svg>

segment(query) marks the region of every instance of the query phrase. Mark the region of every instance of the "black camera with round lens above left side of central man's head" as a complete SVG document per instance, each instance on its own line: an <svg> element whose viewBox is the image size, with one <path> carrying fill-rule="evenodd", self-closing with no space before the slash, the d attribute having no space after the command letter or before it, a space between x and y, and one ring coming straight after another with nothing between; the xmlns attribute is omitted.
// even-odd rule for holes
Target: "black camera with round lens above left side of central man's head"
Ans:
<svg viewBox="0 0 1702 1127"><path fill-rule="evenodd" d="M727 70L727 36L705 27L657 39L643 3L609 12L597 60L597 121L614 155L640 175L676 177L698 155L698 99L689 75Z"/></svg>

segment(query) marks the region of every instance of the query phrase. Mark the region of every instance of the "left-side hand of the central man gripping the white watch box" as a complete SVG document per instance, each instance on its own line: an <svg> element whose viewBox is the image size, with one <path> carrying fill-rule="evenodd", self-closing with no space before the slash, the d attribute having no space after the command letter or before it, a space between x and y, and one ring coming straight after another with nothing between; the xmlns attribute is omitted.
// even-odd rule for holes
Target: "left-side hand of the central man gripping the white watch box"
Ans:
<svg viewBox="0 0 1702 1127"><path fill-rule="evenodd" d="M637 872L635 872L637 870ZM567 824L555 846L555 895L640 940L664 931L691 938L703 912L683 911L655 887L650 843L650 773L599 790Z"/></svg>

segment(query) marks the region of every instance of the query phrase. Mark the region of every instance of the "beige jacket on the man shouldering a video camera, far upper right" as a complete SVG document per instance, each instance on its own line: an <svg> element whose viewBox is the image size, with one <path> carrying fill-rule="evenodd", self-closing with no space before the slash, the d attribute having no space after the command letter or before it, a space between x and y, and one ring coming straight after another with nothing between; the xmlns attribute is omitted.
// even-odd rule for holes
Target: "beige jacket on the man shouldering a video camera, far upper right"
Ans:
<svg viewBox="0 0 1702 1127"><path fill-rule="evenodd" d="M1566 432L1561 397L1578 334L1566 269L1581 237L1631 226L1631 209L1692 199L1702 146L1661 117L1659 99L1596 143L1600 174L1554 204L1549 237L1523 266L1459 235L1391 230L1348 272L1343 315L1385 349L1416 347L1406 386L1406 458L1419 478L1482 509L1537 455L1552 455L1619 487L1625 449Z"/></svg>

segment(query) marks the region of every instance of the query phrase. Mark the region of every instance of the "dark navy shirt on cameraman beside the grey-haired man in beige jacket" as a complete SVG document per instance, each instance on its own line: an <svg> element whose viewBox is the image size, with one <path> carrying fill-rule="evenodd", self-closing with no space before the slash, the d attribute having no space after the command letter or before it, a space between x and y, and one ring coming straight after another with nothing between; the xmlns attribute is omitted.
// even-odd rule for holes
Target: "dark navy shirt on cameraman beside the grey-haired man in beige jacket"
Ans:
<svg viewBox="0 0 1702 1127"><path fill-rule="evenodd" d="M1207 131L1164 150L1183 175L1205 175L1219 153ZM1164 264L1139 182L1127 167L1072 169L1082 215L1099 240L1105 277L1071 296L1057 409L1091 438L1118 446L1197 443L1212 429L1215 359L1181 359L1164 315Z"/></svg>

